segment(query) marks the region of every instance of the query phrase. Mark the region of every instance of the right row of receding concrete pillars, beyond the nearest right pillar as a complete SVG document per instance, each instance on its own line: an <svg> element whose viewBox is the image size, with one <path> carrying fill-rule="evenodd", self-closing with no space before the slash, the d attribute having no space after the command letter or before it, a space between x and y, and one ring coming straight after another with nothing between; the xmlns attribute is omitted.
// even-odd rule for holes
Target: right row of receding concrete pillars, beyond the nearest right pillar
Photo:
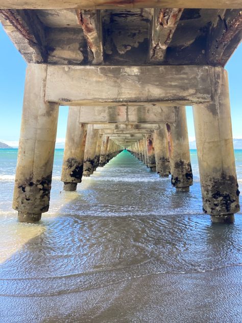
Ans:
<svg viewBox="0 0 242 323"><path fill-rule="evenodd" d="M175 107L176 123L159 124L130 147L130 152L161 177L172 175L179 192L189 192L192 170L185 107Z"/></svg>

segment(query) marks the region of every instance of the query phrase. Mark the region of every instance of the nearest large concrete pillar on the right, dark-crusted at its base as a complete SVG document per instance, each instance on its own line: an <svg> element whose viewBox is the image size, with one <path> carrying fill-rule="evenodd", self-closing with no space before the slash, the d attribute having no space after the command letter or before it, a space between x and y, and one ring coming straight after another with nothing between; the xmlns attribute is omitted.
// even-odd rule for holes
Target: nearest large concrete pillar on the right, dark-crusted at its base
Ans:
<svg viewBox="0 0 242 323"><path fill-rule="evenodd" d="M212 103L193 106L203 211L233 222L239 211L227 72L215 67Z"/></svg>

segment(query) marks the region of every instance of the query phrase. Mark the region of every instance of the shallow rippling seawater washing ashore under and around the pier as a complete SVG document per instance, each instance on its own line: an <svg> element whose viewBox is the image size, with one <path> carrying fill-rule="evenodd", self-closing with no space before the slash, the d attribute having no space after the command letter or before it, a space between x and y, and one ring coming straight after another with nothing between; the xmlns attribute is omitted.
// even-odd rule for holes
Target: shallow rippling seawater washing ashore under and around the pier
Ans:
<svg viewBox="0 0 242 323"><path fill-rule="evenodd" d="M241 231L203 215L128 152L62 191L56 150L50 211L11 208L17 151L0 149L0 322L242 322ZM242 151L235 151L242 183Z"/></svg>

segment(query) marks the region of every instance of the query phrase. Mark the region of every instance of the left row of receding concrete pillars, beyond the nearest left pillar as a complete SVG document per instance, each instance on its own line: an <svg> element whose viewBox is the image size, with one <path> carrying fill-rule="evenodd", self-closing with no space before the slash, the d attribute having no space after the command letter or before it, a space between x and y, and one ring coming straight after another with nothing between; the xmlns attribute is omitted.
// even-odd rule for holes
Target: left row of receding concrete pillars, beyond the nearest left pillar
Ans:
<svg viewBox="0 0 242 323"><path fill-rule="evenodd" d="M69 109L61 181L64 191L76 191L82 176L105 166L122 147L100 134L93 124L79 123L79 107Z"/></svg>

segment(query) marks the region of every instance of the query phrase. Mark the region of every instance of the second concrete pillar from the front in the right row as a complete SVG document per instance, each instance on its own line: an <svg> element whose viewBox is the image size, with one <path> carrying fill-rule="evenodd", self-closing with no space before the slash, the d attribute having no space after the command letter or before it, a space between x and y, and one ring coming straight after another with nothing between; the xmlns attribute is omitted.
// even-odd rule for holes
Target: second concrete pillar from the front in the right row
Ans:
<svg viewBox="0 0 242 323"><path fill-rule="evenodd" d="M192 185L192 171L185 107L175 107L175 114L177 122L166 124L170 136L172 185L177 191L189 192Z"/></svg>

